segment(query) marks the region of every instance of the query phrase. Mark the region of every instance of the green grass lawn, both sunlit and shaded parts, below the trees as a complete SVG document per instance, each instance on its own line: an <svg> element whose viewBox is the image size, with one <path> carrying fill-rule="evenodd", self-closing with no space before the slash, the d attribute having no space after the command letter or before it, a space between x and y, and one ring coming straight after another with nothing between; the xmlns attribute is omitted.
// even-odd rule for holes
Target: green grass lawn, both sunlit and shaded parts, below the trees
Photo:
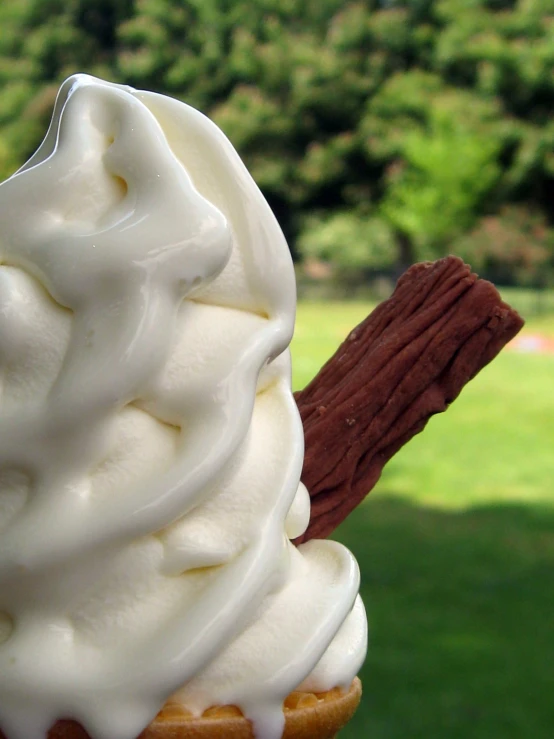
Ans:
<svg viewBox="0 0 554 739"><path fill-rule="evenodd" d="M369 309L299 306L295 387ZM524 330L554 336L554 319ZM371 630L341 739L551 739L553 488L554 355L504 351L337 532Z"/></svg>

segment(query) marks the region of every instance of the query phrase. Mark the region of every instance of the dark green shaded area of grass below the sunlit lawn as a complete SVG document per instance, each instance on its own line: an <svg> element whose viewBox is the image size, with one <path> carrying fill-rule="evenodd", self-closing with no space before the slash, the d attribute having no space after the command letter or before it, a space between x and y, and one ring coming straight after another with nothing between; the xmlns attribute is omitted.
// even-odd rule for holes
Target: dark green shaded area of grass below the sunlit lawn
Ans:
<svg viewBox="0 0 554 739"><path fill-rule="evenodd" d="M554 508L374 497L334 538L360 563L370 624L341 739L552 739Z"/></svg>

